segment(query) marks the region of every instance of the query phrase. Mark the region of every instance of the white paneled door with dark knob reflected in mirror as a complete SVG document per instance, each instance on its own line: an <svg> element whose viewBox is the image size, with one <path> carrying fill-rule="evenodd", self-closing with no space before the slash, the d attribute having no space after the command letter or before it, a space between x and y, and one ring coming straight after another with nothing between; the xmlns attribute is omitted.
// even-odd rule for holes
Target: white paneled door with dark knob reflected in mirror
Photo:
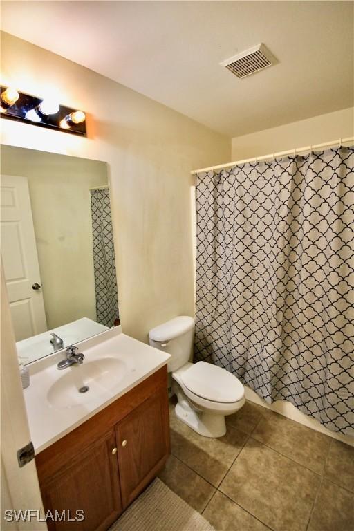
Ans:
<svg viewBox="0 0 354 531"><path fill-rule="evenodd" d="M26 177L1 176L0 221L1 259L15 339L20 341L47 329Z"/></svg>

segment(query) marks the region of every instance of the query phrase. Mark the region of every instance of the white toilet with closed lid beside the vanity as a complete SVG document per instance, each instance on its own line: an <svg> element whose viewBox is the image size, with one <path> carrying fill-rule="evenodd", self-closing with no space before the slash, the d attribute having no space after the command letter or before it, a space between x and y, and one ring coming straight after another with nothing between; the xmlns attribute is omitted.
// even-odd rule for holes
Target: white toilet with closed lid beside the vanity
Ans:
<svg viewBox="0 0 354 531"><path fill-rule="evenodd" d="M206 362L189 363L194 340L194 319L181 316L149 332L150 345L171 355L167 370L176 393L176 415L198 434L222 437L225 416L245 403L243 384L233 374Z"/></svg>

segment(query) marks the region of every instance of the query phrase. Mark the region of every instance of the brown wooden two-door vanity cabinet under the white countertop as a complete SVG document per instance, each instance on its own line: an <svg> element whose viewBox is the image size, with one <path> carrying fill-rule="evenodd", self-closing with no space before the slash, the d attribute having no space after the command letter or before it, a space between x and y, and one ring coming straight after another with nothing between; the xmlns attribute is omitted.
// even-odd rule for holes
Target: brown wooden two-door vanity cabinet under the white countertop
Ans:
<svg viewBox="0 0 354 531"><path fill-rule="evenodd" d="M108 529L168 455L165 366L36 456L44 509L64 514L48 529Z"/></svg>

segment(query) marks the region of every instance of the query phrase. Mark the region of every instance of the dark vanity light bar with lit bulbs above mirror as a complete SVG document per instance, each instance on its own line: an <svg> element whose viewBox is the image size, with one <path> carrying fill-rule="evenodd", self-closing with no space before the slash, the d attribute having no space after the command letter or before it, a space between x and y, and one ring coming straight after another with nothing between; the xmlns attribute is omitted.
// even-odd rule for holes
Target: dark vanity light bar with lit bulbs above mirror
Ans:
<svg viewBox="0 0 354 531"><path fill-rule="evenodd" d="M1 118L86 136L86 115L77 109L59 105L53 100L17 92L1 86Z"/></svg>

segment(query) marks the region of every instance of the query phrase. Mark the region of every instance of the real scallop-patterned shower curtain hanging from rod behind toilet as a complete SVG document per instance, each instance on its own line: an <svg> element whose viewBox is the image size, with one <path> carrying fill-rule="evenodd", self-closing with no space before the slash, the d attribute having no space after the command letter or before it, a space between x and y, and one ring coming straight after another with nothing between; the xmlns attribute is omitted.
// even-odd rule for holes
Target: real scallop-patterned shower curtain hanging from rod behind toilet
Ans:
<svg viewBox="0 0 354 531"><path fill-rule="evenodd" d="M197 176L195 359L354 435L354 149Z"/></svg>

